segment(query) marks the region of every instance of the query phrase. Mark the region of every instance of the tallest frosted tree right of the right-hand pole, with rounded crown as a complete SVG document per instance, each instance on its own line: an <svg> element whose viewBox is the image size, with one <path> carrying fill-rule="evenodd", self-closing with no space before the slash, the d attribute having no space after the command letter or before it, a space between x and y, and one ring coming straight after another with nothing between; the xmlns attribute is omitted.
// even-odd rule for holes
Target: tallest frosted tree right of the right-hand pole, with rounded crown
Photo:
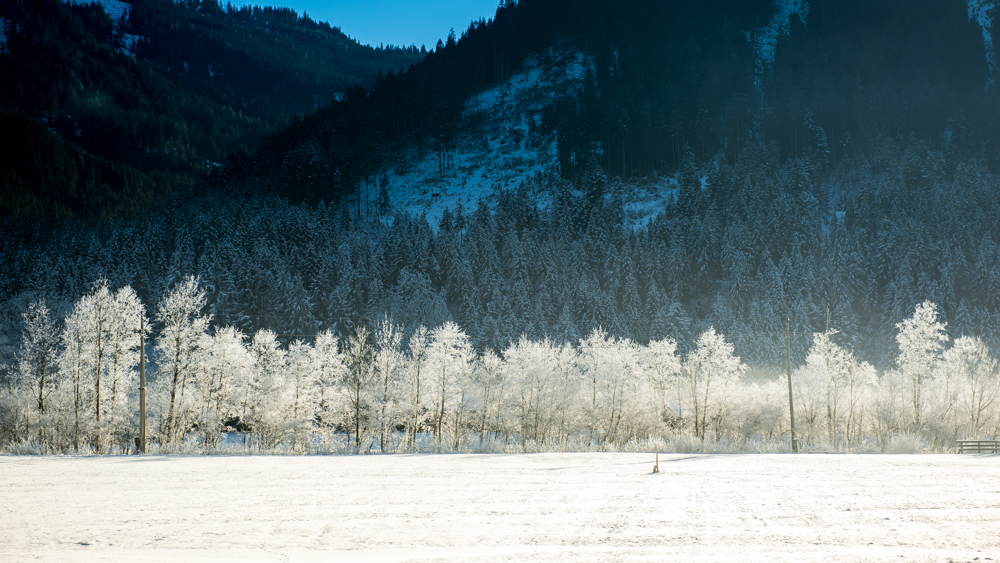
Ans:
<svg viewBox="0 0 1000 563"><path fill-rule="evenodd" d="M922 424L924 383L933 378L940 368L941 353L948 342L945 324L938 322L937 305L924 301L917 305L913 316L896 325L899 334L899 356L896 365L900 374L909 382L912 399L913 427Z"/></svg>

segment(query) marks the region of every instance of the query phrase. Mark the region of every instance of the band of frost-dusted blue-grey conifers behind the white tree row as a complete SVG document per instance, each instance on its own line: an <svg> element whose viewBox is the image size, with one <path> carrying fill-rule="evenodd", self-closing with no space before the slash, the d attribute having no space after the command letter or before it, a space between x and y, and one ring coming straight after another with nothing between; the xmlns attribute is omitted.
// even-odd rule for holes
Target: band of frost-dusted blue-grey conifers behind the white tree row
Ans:
<svg viewBox="0 0 1000 563"><path fill-rule="evenodd" d="M980 161L903 140L821 182L819 150L784 165L777 152L689 158L641 228L624 204L632 188L555 176L449 210L437 230L391 208L359 217L349 204L216 196L106 224L7 221L0 364L31 301L66 311L107 277L151 302L188 273L217 323L285 344L346 337L385 313L408 327L454 321L494 351L522 333L575 342L598 326L642 344L669 335L687 351L715 326L765 367L784 356L789 320L797 361L810 334L835 329L884 369L892 327L931 299L956 335L996 349L1000 190Z"/></svg>

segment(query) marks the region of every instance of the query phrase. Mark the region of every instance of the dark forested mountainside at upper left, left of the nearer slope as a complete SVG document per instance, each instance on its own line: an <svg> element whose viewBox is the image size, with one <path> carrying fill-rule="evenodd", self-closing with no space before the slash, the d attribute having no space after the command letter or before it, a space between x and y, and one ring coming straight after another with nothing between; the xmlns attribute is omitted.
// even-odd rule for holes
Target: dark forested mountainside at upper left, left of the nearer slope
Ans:
<svg viewBox="0 0 1000 563"><path fill-rule="evenodd" d="M0 213L110 218L189 188L380 72L373 49L289 9L0 3Z"/></svg>

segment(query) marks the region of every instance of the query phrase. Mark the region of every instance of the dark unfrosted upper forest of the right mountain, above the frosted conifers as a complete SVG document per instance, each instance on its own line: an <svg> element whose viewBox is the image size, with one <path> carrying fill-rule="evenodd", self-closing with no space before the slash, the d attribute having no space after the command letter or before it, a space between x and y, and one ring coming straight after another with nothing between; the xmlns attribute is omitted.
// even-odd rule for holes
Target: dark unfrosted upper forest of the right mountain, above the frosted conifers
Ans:
<svg viewBox="0 0 1000 563"><path fill-rule="evenodd" d="M532 131L557 135L571 181L591 164L624 180L671 172L685 145L699 161L732 162L748 143L774 143L782 160L821 150L834 164L911 135L934 146L947 140L992 167L1000 106L993 20L980 4L508 2L412 70L272 137L249 161L232 163L227 179L266 178L276 193L330 201L394 166L400 147L417 144L446 161L470 125L469 96L553 50L590 63L581 88L553 93ZM312 157L298 164L303 152Z"/></svg>

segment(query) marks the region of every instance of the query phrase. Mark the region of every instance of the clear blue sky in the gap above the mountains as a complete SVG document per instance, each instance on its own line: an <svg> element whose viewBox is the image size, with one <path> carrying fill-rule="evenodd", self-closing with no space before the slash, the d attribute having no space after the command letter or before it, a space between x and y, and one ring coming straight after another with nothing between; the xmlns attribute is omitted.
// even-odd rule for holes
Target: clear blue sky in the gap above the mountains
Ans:
<svg viewBox="0 0 1000 563"><path fill-rule="evenodd" d="M316 21L330 22L360 43L426 45L454 28L459 36L469 22L492 18L500 0L261 0L259 5L287 6Z"/></svg>

